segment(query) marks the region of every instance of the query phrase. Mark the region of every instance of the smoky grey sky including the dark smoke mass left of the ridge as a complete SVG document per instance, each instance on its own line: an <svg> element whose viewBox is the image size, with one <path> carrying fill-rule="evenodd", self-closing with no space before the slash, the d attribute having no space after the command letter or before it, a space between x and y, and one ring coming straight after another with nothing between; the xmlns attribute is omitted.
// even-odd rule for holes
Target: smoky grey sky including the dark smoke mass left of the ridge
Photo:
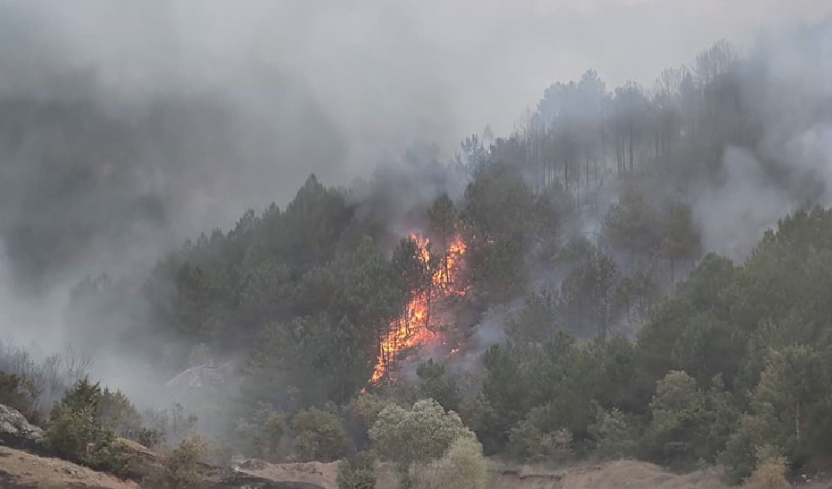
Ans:
<svg viewBox="0 0 832 489"><path fill-rule="evenodd" d="M96 73L92 116L47 116L0 155L0 237L22 276L60 265L57 252L98 268L155 257L285 205L311 172L348 185L414 141L448 158L487 124L505 135L552 81L594 68L609 88L649 86L721 38L741 49L830 12L829 0L0 0L4 100L66 97L51 76ZM121 144L109 126L128 156L107 152ZM55 168L76 164L79 178L56 185Z"/></svg>

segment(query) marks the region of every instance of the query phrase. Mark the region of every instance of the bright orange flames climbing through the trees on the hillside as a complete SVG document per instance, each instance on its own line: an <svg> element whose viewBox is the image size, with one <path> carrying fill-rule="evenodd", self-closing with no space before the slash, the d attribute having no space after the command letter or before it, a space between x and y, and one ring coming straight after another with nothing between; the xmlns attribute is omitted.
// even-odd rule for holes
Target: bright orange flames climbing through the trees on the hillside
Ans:
<svg viewBox="0 0 832 489"><path fill-rule="evenodd" d="M411 235L419 250L419 259L423 264L430 261L430 240ZM379 383L394 366L399 353L409 348L433 343L438 333L433 332L431 326L435 319L431 318L430 308L434 299L465 295L466 289L457 283L459 270L462 268L463 257L468 251L462 237L456 236L448 245L438 268L433 271L431 286L428 290L415 293L404 310L404 314L395 319L379 345L379 358L375 365L370 383Z"/></svg>

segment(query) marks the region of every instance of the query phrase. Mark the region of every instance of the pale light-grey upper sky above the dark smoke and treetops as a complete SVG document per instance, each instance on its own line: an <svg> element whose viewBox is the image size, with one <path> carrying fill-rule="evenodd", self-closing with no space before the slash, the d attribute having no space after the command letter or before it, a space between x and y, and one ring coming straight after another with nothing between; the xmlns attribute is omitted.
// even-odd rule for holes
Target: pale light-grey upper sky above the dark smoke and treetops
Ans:
<svg viewBox="0 0 832 489"><path fill-rule="evenodd" d="M741 47L830 11L828 0L179 0L38 13L77 62L103 64L123 86L289 74L363 169L414 137L453 147L487 123L510 131L549 83L587 68L608 86L650 84L723 37Z"/></svg>

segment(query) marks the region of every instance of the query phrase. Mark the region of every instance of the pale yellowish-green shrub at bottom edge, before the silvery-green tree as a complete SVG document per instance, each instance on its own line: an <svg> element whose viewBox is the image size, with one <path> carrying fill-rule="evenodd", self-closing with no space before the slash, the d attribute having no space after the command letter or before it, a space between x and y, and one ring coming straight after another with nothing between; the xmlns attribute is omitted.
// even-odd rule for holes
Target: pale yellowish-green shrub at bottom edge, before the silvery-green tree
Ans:
<svg viewBox="0 0 832 489"><path fill-rule="evenodd" d="M483 489L488 483L488 464L483 446L474 438L460 437L442 458L416 474L417 489Z"/></svg>

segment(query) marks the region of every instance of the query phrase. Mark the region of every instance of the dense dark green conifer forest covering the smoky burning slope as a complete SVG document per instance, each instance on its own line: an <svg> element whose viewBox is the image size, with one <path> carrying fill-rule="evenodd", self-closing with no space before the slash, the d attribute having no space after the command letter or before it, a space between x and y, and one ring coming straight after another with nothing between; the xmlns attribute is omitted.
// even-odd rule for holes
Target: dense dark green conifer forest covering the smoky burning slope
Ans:
<svg viewBox="0 0 832 489"><path fill-rule="evenodd" d="M67 327L160 378L218 375L179 416L251 457L376 448L407 479L409 463L479 442L529 462L719 466L731 483L765 464L822 470L832 211L772 147L832 121L832 101L790 91L768 54L718 42L650 88L588 71L448 163L416 148L350 188L311 175L285 208L249 210L152 269L82 280ZM735 261L711 252L702 201L737 158L800 205L752 229L761 240ZM418 415L453 436L399 454L396 430ZM166 416L121 434L149 437Z"/></svg>

